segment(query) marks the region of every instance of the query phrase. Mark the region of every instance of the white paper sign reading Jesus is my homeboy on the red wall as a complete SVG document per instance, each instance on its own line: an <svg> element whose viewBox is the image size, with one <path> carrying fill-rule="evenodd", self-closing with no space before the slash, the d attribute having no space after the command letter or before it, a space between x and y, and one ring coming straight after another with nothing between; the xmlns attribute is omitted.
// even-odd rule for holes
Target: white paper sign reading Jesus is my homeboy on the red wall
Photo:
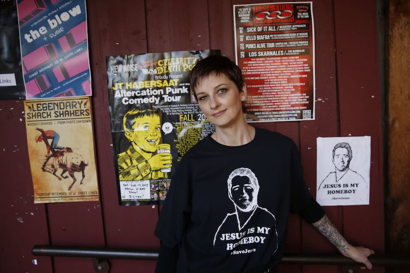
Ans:
<svg viewBox="0 0 410 273"><path fill-rule="evenodd" d="M369 205L370 137L318 137L317 145L318 203Z"/></svg>

